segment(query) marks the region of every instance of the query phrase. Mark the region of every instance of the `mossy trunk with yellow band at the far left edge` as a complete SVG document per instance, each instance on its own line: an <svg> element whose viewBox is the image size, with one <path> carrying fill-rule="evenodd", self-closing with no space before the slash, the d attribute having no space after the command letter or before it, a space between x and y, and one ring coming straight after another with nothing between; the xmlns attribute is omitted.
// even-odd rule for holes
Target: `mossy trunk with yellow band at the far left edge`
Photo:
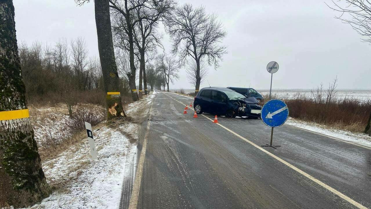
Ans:
<svg viewBox="0 0 371 209"><path fill-rule="evenodd" d="M21 208L48 196L50 188L24 96L12 0L0 0L0 19L0 208Z"/></svg>

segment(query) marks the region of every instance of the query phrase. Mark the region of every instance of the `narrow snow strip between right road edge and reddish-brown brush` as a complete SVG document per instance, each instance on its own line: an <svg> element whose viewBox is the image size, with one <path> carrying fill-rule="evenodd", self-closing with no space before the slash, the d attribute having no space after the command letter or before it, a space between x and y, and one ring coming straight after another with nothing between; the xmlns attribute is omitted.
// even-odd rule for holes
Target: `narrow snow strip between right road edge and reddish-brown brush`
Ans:
<svg viewBox="0 0 371 209"><path fill-rule="evenodd" d="M345 141L354 142L360 145L364 145L366 147L371 147L371 136L368 136L367 134L354 134L349 131L332 129L326 126L319 125L318 123L309 123L304 122L302 120L296 120L293 118L288 118L286 120L286 124L306 129L309 131L317 132L320 134L332 136L335 138L339 138Z"/></svg>

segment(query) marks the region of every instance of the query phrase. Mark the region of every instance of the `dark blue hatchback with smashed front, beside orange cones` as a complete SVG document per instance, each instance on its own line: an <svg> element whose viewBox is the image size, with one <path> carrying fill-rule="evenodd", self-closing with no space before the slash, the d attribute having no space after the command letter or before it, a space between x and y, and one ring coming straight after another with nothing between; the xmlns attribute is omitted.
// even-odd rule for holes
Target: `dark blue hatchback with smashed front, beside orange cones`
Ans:
<svg viewBox="0 0 371 209"><path fill-rule="evenodd" d="M224 87L206 87L194 97L194 109L197 114L203 112L214 115L225 115L260 118L262 106L255 97L246 97L237 91Z"/></svg>

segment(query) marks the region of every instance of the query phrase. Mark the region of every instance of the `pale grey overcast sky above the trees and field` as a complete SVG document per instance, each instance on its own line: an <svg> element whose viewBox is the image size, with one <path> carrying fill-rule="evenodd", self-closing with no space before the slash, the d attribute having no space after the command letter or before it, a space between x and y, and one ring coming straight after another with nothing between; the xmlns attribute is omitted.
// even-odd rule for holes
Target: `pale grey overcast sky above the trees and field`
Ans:
<svg viewBox="0 0 371 209"><path fill-rule="evenodd" d="M13 0L17 39L54 45L58 38L82 36L89 55L98 57L93 1L82 7L74 0ZM311 89L335 76L339 89L371 89L371 45L361 42L349 26L334 19L324 1L308 0L180 0L204 5L216 13L228 32L229 53L220 67L210 67L211 86L269 89L269 61L277 61L273 89ZM328 2L328 1L326 1ZM168 36L163 40L170 51ZM207 82L201 86L208 86ZM184 70L171 89L191 89Z"/></svg>

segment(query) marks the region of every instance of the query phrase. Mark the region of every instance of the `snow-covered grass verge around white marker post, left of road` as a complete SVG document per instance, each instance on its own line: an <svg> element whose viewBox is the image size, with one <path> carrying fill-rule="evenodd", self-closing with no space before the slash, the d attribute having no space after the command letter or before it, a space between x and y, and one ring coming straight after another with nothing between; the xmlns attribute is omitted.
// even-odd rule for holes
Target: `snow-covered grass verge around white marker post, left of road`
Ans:
<svg viewBox="0 0 371 209"><path fill-rule="evenodd" d="M87 140L52 160L46 160L43 170L47 181L56 190L40 204L29 209L92 209L118 208L122 179L126 175L126 156L136 152L136 145L120 131L135 131L127 123L118 128L102 126L93 130L98 160L91 160Z"/></svg>

